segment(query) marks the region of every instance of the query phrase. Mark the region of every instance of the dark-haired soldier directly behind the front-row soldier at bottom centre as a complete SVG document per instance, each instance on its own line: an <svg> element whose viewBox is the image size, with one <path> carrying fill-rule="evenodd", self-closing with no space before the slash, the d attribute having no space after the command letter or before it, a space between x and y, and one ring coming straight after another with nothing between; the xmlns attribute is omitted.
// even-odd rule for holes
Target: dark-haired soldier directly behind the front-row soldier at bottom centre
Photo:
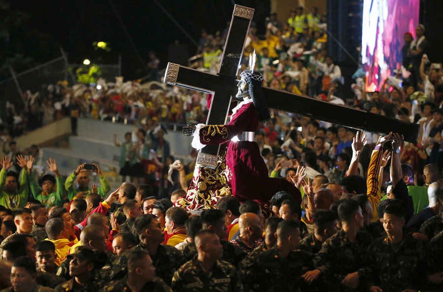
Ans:
<svg viewBox="0 0 443 292"><path fill-rule="evenodd" d="M222 261L228 262L234 266L237 266L240 261L246 257L246 253L241 247L235 245L229 241L223 240L226 236L226 225L224 224L224 213L218 209L206 209L200 213L200 221L202 229L209 229L214 231L220 238L220 243L223 246ZM190 242L185 245L183 249L183 255L186 262L192 260L197 255L197 248L195 242Z"/></svg>

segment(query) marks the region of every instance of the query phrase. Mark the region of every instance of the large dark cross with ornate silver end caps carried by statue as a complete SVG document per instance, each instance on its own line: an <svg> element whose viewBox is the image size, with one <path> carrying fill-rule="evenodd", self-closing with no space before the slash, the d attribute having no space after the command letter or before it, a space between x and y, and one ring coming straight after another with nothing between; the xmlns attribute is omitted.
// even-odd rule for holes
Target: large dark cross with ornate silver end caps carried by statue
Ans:
<svg viewBox="0 0 443 292"><path fill-rule="evenodd" d="M237 71L240 65L254 9L235 5L229 33L221 58L218 74L198 71L174 63L168 63L164 82L184 88L213 94L207 125L223 125L231 99L237 93ZM383 117L361 110L332 104L286 91L263 87L269 108L334 124L386 135L399 133L408 142L416 143L419 125L395 118ZM200 150L197 163L210 168L217 165L220 145L207 145Z"/></svg>

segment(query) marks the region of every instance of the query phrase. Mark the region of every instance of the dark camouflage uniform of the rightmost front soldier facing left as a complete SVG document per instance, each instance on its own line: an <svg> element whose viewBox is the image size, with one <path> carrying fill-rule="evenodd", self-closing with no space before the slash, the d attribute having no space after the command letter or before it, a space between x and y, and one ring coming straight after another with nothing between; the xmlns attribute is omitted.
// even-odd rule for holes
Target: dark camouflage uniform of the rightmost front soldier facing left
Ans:
<svg viewBox="0 0 443 292"><path fill-rule="evenodd" d="M405 235L396 246L387 235L369 246L365 261L368 288L379 286L383 292L419 290L424 282L422 244Z"/></svg>

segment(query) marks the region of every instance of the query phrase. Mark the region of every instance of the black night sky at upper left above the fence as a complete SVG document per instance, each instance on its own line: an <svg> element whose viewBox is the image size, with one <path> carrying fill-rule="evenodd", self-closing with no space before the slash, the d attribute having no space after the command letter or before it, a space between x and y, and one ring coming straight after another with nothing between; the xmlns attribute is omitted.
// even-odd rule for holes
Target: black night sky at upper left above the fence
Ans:
<svg viewBox="0 0 443 292"><path fill-rule="evenodd" d="M109 0L9 0L10 9L0 17L9 30L9 42L0 43L0 61L16 54L22 60L12 62L16 72L61 56L59 47L68 53L70 63L85 58L92 63L117 64L122 55L125 80L145 76L142 64L118 21ZM175 20L198 42L201 29L214 34L223 30L233 11L231 0L158 0ZM168 47L175 41L187 45L189 56L196 47L153 0L114 0L114 5L127 27L145 63L149 51L158 53L161 67L168 61ZM270 0L236 0L235 3L256 9L254 21L268 16ZM96 50L94 42L108 42L111 51ZM4 66L3 66L4 67ZM1 79L7 76L1 71Z"/></svg>

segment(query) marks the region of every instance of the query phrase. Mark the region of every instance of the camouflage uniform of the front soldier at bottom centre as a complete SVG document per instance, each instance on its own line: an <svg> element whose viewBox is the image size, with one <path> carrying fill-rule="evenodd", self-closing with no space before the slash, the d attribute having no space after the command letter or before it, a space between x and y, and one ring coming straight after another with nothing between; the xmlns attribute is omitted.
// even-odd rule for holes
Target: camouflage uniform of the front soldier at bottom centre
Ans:
<svg viewBox="0 0 443 292"><path fill-rule="evenodd" d="M240 274L233 265L217 261L206 273L197 256L175 272L171 288L174 292L243 292Z"/></svg>

